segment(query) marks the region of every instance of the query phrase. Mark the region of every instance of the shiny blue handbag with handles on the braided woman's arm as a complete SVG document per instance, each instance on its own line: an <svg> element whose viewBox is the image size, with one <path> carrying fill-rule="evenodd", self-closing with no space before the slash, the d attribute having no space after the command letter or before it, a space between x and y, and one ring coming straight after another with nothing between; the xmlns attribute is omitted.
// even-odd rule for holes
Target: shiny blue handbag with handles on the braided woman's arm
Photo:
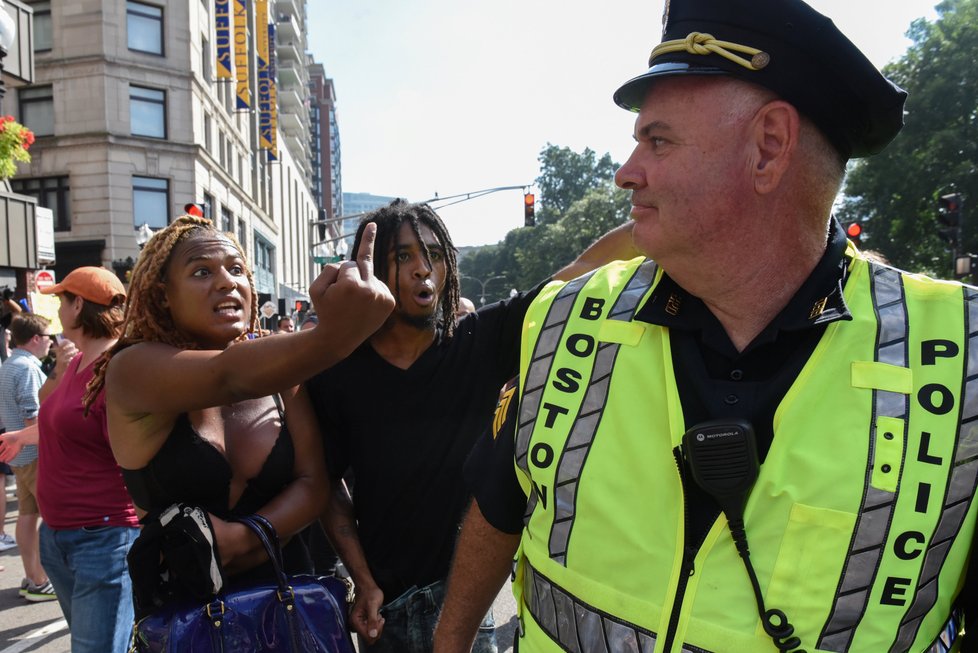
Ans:
<svg viewBox="0 0 978 653"><path fill-rule="evenodd" d="M276 581L222 590L203 605L165 606L135 624L130 653L354 653L348 586L332 576L287 576L271 523L260 515L239 521L258 535Z"/></svg>

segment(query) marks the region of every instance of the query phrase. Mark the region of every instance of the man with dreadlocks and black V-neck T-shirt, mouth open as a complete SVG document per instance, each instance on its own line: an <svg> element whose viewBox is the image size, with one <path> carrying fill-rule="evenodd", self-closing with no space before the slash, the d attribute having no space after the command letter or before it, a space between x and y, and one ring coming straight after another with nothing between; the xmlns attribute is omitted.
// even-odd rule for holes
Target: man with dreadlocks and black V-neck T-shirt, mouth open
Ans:
<svg viewBox="0 0 978 653"><path fill-rule="evenodd" d="M372 224L375 272L397 303L368 342L307 383L334 482L322 521L356 584L360 650L423 653L467 500L462 466L516 372L538 289L457 320L456 250L438 215L395 200L364 218L354 248ZM625 225L555 278L634 255ZM339 483L347 472L352 502ZM473 650L495 651L491 612L483 626Z"/></svg>

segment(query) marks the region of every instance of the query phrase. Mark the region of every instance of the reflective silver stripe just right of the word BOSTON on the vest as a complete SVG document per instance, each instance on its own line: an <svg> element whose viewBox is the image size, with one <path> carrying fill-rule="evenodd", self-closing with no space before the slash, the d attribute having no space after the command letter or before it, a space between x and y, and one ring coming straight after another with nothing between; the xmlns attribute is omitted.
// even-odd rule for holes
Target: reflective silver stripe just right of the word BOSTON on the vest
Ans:
<svg viewBox="0 0 978 653"><path fill-rule="evenodd" d="M656 264L646 261L628 280L625 289L618 295L608 319L629 322L638 309L639 302L655 280ZM567 546L574 517L577 514L577 487L581 470L587 460L588 452L594 443L598 424L608 401L608 387L611 385L611 371L621 345L599 343L594 357L591 377L588 380L584 401L578 410L574 425L557 462L554 478L554 522L550 529L550 557L562 565L567 564Z"/></svg>

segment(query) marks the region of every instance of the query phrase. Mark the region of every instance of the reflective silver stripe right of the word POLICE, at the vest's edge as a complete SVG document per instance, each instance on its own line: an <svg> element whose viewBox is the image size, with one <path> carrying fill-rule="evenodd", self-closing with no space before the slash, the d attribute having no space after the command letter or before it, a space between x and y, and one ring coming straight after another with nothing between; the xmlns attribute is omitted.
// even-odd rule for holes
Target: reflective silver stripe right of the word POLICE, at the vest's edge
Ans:
<svg viewBox="0 0 978 653"><path fill-rule="evenodd" d="M978 293L964 288L965 293L965 351L966 377L961 401L957 442L954 448L954 467L948 481L944 505L937 528L927 546L917 581L913 603L904 615L890 653L906 651L917 638L924 616L933 609L938 596L938 576L947 560L951 544L964 523L978 486ZM939 650L939 649L938 649Z"/></svg>

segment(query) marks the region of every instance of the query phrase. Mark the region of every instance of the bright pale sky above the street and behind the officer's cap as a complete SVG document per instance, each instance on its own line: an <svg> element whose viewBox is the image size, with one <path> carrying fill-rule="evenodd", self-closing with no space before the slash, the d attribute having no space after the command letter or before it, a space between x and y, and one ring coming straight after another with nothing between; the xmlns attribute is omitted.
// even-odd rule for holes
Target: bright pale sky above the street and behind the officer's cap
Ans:
<svg viewBox="0 0 978 653"><path fill-rule="evenodd" d="M809 0L877 66L936 0ZM622 163L662 0L308 0L308 49L333 79L345 192L411 201L532 186L552 143ZM539 197L539 195L538 195ZM438 203L457 246L523 224L522 190Z"/></svg>

